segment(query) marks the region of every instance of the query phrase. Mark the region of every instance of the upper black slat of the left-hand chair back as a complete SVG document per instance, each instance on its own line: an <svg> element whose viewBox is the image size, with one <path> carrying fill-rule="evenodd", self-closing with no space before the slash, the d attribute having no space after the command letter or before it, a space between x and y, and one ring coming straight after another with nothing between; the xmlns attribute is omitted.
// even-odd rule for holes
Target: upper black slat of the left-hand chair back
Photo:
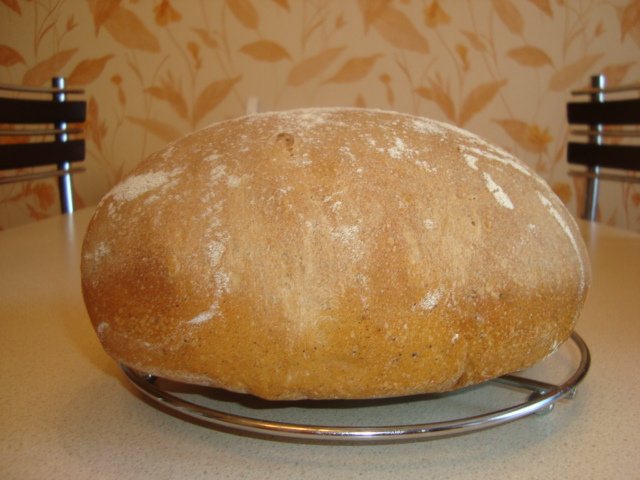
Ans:
<svg viewBox="0 0 640 480"><path fill-rule="evenodd" d="M0 98L0 123L79 123L86 117L84 101Z"/></svg>

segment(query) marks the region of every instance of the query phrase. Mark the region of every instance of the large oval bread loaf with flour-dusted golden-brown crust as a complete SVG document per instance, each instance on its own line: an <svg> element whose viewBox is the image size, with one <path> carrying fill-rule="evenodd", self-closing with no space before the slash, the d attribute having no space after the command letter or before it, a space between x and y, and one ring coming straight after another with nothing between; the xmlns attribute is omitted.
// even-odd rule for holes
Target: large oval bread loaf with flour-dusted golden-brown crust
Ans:
<svg viewBox="0 0 640 480"><path fill-rule="evenodd" d="M366 109L223 121L142 162L82 254L118 362L267 399L453 390L571 334L586 249L547 184L444 123Z"/></svg>

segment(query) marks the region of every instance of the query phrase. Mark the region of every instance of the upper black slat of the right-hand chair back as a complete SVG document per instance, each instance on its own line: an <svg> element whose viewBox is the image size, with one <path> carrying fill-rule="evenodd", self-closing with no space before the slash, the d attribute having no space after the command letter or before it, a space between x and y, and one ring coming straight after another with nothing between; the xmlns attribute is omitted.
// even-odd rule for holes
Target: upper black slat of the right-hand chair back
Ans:
<svg viewBox="0 0 640 480"><path fill-rule="evenodd" d="M633 125L640 123L640 98L567 104L569 123Z"/></svg>

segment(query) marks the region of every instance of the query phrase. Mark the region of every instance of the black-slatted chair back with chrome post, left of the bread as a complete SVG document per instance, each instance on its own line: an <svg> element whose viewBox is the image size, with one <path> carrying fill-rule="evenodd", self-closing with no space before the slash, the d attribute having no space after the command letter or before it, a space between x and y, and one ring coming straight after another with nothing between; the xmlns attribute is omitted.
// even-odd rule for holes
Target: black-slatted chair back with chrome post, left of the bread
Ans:
<svg viewBox="0 0 640 480"><path fill-rule="evenodd" d="M69 100L82 90L65 88L64 78L54 77L51 88L0 84L0 184L57 177L60 210L74 210L71 167L85 157L83 124L86 101ZM55 166L42 170L37 167Z"/></svg>

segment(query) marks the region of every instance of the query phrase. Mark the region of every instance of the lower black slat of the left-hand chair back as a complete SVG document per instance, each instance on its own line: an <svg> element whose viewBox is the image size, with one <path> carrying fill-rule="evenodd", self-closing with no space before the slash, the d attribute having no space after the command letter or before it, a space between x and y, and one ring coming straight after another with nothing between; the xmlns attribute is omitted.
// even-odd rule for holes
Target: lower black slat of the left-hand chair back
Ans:
<svg viewBox="0 0 640 480"><path fill-rule="evenodd" d="M0 170L78 162L84 157L84 140L5 144L0 148Z"/></svg>

